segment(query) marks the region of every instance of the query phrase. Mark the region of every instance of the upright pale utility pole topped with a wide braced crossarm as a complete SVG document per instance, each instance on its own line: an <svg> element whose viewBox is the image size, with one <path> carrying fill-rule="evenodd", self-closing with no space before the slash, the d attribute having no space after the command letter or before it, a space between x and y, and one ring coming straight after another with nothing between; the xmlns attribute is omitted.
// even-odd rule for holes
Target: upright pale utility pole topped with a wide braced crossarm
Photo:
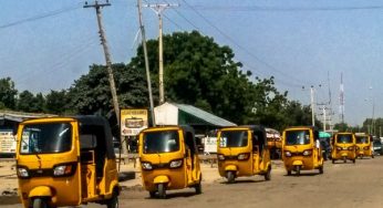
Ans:
<svg viewBox="0 0 383 208"><path fill-rule="evenodd" d="M162 13L165 9L170 7L178 7L178 4L170 3L155 3L155 4L144 4L144 7L152 8L153 11L158 15L158 64L159 64L159 104L165 103L165 92L164 92L164 61L163 61L163 17Z"/></svg>

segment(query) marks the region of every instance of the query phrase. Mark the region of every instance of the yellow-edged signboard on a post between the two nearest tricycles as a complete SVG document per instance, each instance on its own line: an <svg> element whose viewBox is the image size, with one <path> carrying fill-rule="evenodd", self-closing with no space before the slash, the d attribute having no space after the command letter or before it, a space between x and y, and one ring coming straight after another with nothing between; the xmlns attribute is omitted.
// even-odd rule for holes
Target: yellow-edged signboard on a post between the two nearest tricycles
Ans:
<svg viewBox="0 0 383 208"><path fill-rule="evenodd" d="M148 126L147 110L121 110L120 119L122 136L136 136Z"/></svg>

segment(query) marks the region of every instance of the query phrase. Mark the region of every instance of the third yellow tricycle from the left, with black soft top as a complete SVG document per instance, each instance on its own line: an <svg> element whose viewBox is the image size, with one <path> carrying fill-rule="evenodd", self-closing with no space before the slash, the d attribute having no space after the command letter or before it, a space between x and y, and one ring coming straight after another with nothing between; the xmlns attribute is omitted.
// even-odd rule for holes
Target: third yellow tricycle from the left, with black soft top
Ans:
<svg viewBox="0 0 383 208"><path fill-rule="evenodd" d="M218 171L229 184L241 176L271 179L270 150L262 126L235 126L218 131Z"/></svg>

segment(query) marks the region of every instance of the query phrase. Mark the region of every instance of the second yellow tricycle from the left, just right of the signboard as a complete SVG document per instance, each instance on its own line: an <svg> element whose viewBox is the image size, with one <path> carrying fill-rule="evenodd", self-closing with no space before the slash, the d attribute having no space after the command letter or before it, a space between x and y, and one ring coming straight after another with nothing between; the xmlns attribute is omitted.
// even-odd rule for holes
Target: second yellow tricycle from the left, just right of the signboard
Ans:
<svg viewBox="0 0 383 208"><path fill-rule="evenodd" d="M138 154L144 188L153 198L166 190L195 188L201 179L194 129L189 126L151 127L139 133Z"/></svg>

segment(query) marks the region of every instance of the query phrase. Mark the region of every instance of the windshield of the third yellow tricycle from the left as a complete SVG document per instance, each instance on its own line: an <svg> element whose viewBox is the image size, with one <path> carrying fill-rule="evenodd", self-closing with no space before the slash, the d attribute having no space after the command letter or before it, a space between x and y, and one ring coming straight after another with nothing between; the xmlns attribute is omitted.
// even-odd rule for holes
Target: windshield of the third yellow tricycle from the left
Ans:
<svg viewBox="0 0 383 208"><path fill-rule="evenodd" d="M247 131L224 131L220 133L219 147L246 147Z"/></svg>

